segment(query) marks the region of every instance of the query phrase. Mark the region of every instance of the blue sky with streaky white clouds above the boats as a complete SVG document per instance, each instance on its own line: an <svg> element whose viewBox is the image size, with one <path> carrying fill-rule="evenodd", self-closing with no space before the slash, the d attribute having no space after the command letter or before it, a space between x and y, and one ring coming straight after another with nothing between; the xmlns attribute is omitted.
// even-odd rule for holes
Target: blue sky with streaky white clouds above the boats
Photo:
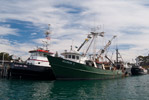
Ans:
<svg viewBox="0 0 149 100"><path fill-rule="evenodd" d="M149 52L148 0L0 0L0 52L26 59L51 24L50 50L79 46L95 26L126 61ZM105 41L105 42L106 42ZM112 46L111 46L112 47Z"/></svg>

